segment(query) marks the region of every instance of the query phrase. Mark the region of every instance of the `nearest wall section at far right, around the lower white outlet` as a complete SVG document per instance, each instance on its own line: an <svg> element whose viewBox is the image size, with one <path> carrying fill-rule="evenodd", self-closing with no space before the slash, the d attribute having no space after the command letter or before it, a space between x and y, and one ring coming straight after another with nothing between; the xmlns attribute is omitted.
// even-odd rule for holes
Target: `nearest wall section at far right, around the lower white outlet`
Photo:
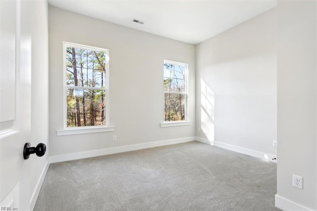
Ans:
<svg viewBox="0 0 317 211"><path fill-rule="evenodd" d="M277 196L283 210L317 210L317 5L278 2ZM292 187L292 174L304 189Z"/></svg>

